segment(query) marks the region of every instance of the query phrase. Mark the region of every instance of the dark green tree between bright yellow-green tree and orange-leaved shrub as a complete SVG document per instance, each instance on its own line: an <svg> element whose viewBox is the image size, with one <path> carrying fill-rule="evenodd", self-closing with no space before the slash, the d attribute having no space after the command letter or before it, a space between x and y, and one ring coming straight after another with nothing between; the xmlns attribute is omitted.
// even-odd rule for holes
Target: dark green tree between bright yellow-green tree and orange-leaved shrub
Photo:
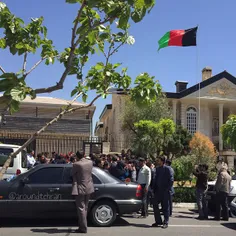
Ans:
<svg viewBox="0 0 236 236"><path fill-rule="evenodd" d="M187 129L182 126L177 126L175 133L164 150L165 155L168 156L168 158L174 158L189 154L189 143L191 139L192 135Z"/></svg>

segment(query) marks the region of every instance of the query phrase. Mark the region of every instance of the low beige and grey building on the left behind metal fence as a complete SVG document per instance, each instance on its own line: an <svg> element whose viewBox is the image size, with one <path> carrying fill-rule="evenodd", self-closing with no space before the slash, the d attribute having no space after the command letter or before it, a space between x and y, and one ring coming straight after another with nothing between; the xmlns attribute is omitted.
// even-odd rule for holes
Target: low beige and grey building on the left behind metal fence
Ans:
<svg viewBox="0 0 236 236"><path fill-rule="evenodd" d="M4 116L0 127L0 142L22 145L36 131L56 117L70 101L52 97L27 97L18 112ZM50 125L31 143L29 149L41 152L68 153L84 149L92 132L92 118L95 107L74 102L72 107L81 109L66 114ZM3 111L3 107L0 107Z"/></svg>

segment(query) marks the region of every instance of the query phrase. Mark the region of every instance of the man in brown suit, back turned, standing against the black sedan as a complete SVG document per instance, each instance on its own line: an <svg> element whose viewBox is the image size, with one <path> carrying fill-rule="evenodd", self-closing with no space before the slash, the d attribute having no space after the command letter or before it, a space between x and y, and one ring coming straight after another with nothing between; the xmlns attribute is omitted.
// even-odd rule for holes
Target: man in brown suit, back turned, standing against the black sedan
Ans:
<svg viewBox="0 0 236 236"><path fill-rule="evenodd" d="M72 177L72 195L75 196L76 207L79 221L79 233L87 233L87 210L90 194L94 192L91 160L77 152L78 161L73 164Z"/></svg>

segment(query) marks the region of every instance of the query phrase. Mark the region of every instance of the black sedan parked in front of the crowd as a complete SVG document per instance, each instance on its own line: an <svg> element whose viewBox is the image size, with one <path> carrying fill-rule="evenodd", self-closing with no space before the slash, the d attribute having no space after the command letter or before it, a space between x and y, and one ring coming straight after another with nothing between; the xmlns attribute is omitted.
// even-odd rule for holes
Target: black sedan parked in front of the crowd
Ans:
<svg viewBox="0 0 236 236"><path fill-rule="evenodd" d="M38 165L12 180L0 181L0 218L77 217L71 169L70 164ZM140 210L139 185L121 182L95 167L93 182L88 218L94 225L110 226L117 215Z"/></svg>

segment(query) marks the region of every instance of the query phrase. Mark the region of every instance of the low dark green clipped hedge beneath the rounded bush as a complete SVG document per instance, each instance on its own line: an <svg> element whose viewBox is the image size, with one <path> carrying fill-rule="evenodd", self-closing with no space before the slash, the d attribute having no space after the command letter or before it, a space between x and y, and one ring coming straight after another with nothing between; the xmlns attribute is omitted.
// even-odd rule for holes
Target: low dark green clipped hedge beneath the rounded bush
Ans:
<svg viewBox="0 0 236 236"><path fill-rule="evenodd" d="M175 195L173 198L173 202L180 203L180 202L186 202L186 203L195 203L196 202L196 196L195 196L195 190L196 188L193 187L175 187Z"/></svg>

